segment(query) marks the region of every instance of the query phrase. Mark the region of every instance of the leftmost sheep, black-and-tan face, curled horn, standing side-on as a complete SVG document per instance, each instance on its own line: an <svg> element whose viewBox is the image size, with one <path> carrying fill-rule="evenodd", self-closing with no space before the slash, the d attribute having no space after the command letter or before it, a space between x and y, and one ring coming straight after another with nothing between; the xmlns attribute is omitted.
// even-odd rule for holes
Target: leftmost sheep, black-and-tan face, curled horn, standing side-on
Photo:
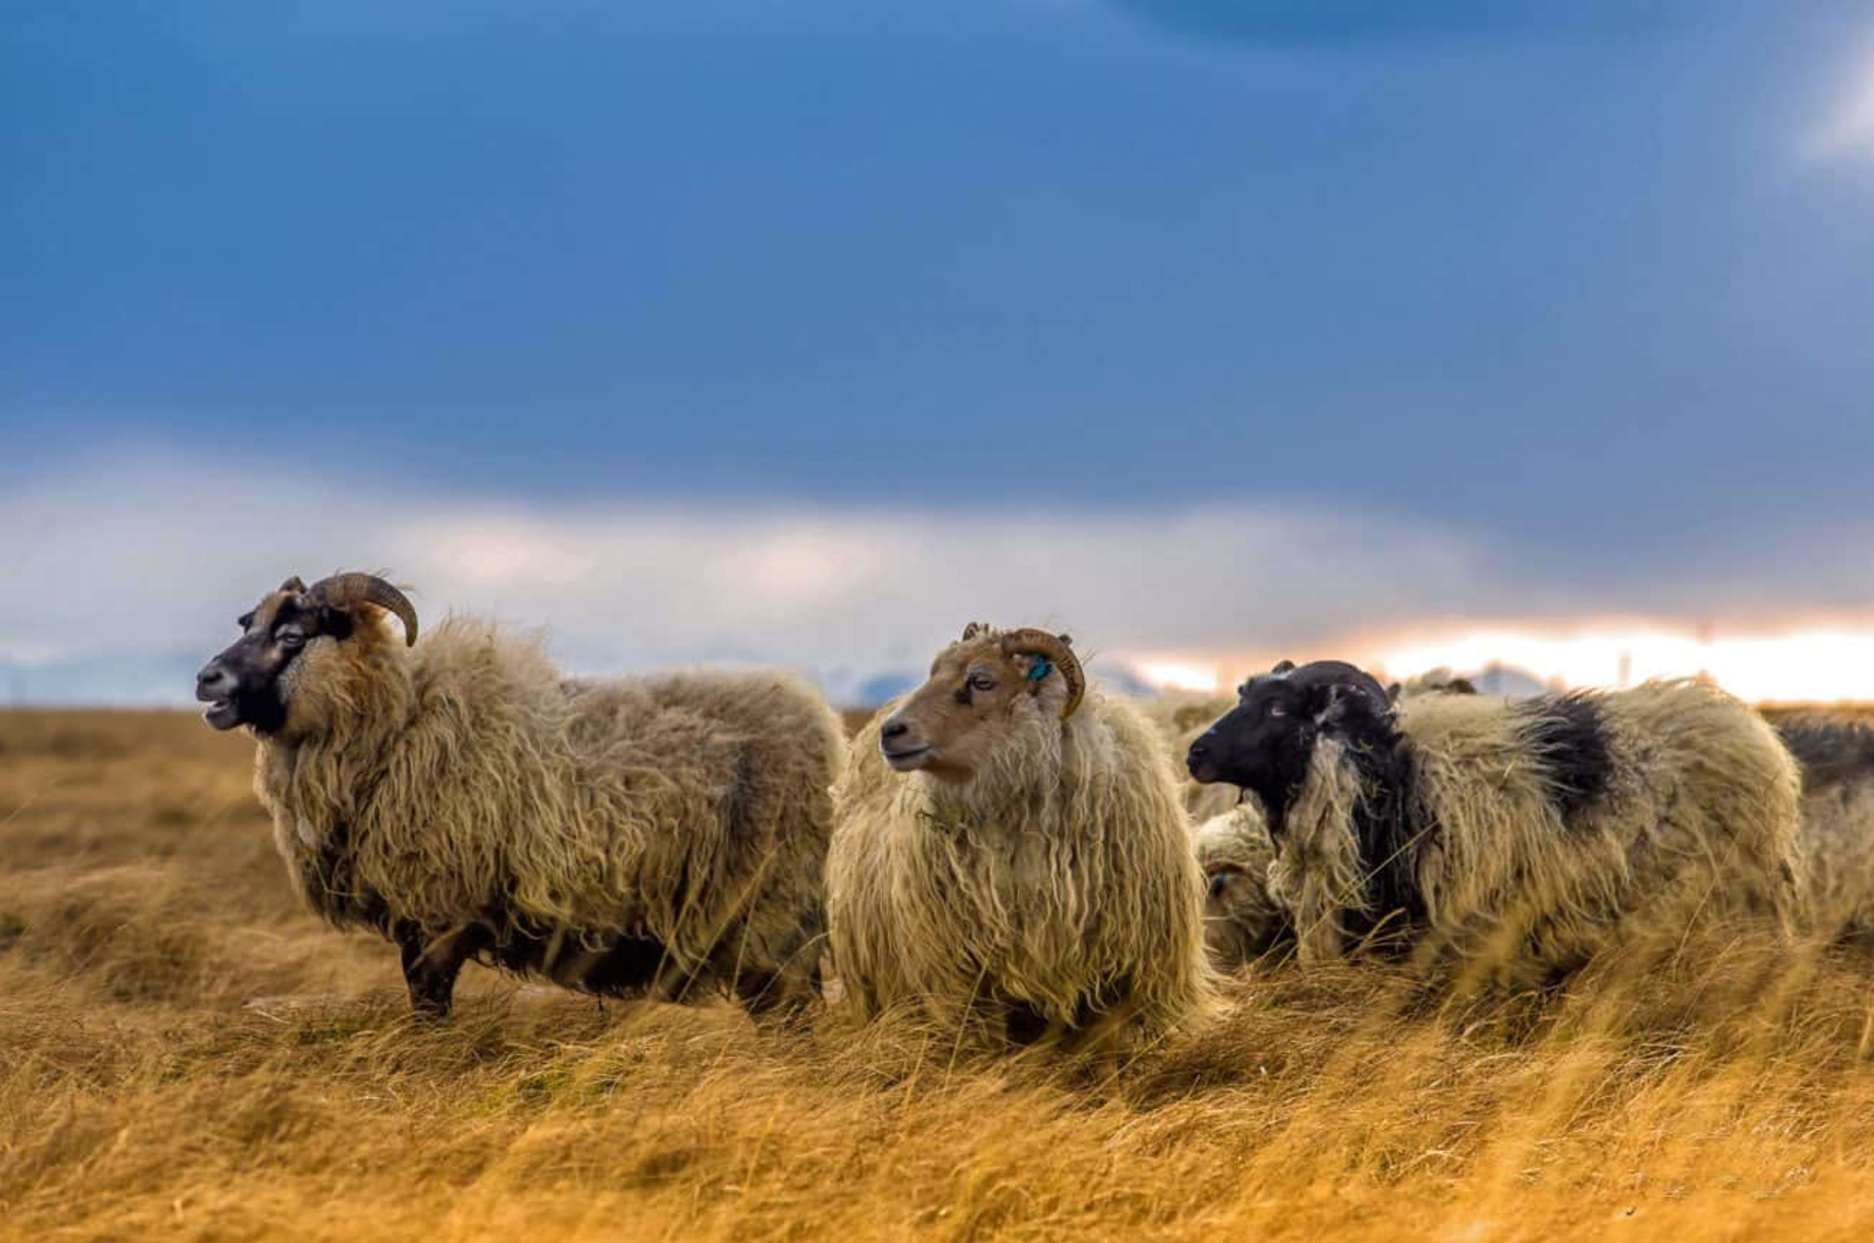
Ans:
<svg viewBox="0 0 1874 1243"><path fill-rule="evenodd" d="M806 682L568 681L472 619L418 643L367 574L287 579L240 626L197 677L204 716L255 737L294 889L394 941L418 1012L448 1014L468 960L757 1014L811 999L845 742Z"/></svg>

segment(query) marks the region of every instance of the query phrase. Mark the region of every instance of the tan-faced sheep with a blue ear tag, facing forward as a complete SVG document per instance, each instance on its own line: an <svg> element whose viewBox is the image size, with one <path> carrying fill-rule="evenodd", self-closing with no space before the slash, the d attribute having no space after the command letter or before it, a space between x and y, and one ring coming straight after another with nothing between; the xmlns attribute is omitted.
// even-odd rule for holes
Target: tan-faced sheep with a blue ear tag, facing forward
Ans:
<svg viewBox="0 0 1874 1243"><path fill-rule="evenodd" d="M1128 1048L1197 1024L1203 876L1164 742L1066 636L971 624L834 787L832 956L860 1018Z"/></svg>

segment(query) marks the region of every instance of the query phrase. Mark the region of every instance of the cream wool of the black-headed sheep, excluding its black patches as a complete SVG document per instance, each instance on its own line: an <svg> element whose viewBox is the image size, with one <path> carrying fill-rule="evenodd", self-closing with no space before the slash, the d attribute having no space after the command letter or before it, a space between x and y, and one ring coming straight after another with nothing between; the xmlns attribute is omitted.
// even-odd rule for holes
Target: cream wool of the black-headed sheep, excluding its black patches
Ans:
<svg viewBox="0 0 1874 1243"><path fill-rule="evenodd" d="M1424 825L1404 847L1426 904L1420 945L1473 979L1533 984L1625 939L1741 913L1790 926L1799 782L1771 727L1692 681L1595 705L1612 780L1567 823L1503 699L1400 705ZM1361 797L1338 744L1317 746L1269 876L1304 962L1346 949L1340 919L1377 862L1355 859Z"/></svg>

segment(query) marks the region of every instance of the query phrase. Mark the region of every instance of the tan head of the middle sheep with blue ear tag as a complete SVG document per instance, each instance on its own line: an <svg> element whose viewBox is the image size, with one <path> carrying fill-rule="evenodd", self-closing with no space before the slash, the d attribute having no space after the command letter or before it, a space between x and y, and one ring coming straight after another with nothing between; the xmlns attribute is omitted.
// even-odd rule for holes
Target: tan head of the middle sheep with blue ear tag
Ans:
<svg viewBox="0 0 1874 1243"><path fill-rule="evenodd" d="M900 772L967 782L1006 737L1018 714L1066 720L1087 690L1064 634L999 632L971 622L931 662L930 681L879 729L879 750Z"/></svg>

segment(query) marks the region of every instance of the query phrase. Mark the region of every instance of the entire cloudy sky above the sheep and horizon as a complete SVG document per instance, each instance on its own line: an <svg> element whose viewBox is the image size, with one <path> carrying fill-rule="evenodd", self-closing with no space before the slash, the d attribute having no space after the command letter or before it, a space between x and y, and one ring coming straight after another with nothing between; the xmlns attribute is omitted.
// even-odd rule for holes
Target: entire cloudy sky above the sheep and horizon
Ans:
<svg viewBox="0 0 1874 1243"><path fill-rule="evenodd" d="M1861 4L34 6L0 107L17 701L339 568L847 699L1874 697Z"/></svg>

